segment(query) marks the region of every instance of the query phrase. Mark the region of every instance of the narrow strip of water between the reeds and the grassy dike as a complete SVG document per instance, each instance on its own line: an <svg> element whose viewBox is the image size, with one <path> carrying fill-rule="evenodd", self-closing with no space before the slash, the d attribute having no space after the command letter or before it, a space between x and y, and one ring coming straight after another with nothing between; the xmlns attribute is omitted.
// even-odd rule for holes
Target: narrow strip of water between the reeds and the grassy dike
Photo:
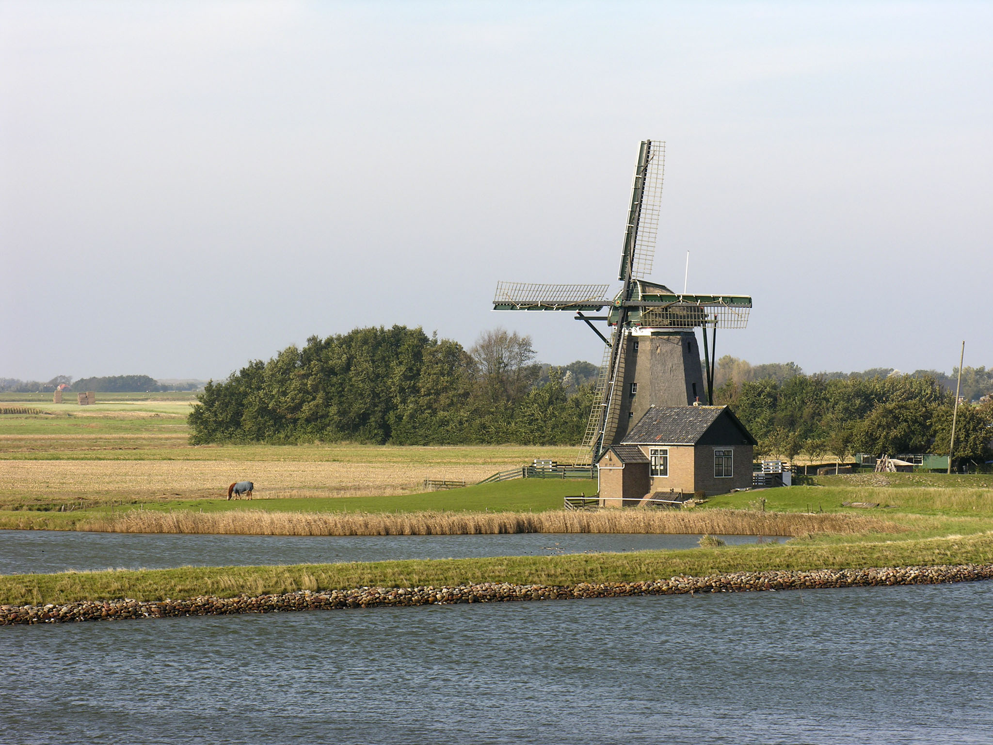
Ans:
<svg viewBox="0 0 993 745"><path fill-rule="evenodd" d="M755 535L721 538L728 543L758 540ZM699 539L642 533L300 536L0 530L0 574L637 551L692 548Z"/></svg>

